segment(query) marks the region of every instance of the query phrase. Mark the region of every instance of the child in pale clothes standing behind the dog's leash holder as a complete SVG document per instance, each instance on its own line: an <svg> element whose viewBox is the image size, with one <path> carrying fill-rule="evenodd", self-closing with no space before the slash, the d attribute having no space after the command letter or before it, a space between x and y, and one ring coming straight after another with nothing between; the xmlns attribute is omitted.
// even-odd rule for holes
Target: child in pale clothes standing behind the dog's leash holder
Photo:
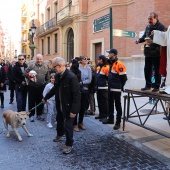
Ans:
<svg viewBox="0 0 170 170"><path fill-rule="evenodd" d="M51 90L51 88L54 86L55 81L55 73L50 74L50 83L48 83L43 91L43 97L46 96L46 94ZM55 106L55 96L51 97L47 100L46 103L47 107L47 127L52 128L52 115L56 113L56 106Z"/></svg>

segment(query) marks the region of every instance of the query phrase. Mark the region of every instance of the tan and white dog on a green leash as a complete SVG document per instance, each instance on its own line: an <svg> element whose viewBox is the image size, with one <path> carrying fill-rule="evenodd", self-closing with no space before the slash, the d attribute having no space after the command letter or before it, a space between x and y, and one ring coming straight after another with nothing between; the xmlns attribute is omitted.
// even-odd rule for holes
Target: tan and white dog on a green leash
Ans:
<svg viewBox="0 0 170 170"><path fill-rule="evenodd" d="M28 136L33 136L30 134L26 128L26 121L29 118L29 113L23 111L23 112L13 112L12 110L6 110L3 113L2 119L4 122L4 126L7 130L7 135L6 137L10 136L9 130L8 130L8 124L11 125L12 129L14 130L15 134L18 137L18 140L21 142L22 138L20 134L17 131L18 127L22 127L24 131L27 133Z"/></svg>

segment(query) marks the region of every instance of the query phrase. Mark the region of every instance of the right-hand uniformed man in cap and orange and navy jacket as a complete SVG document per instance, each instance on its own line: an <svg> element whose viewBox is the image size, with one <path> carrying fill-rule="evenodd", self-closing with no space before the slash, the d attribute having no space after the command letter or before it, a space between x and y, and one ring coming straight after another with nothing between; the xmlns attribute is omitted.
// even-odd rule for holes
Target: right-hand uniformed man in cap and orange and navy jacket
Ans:
<svg viewBox="0 0 170 170"><path fill-rule="evenodd" d="M127 81L126 67L118 60L118 51L114 48L107 51L109 53L110 70L108 75L108 104L109 104L109 117L108 121L114 122L114 104L117 111L116 124L113 129L120 128L122 106L121 106L121 91L123 91L124 85Z"/></svg>

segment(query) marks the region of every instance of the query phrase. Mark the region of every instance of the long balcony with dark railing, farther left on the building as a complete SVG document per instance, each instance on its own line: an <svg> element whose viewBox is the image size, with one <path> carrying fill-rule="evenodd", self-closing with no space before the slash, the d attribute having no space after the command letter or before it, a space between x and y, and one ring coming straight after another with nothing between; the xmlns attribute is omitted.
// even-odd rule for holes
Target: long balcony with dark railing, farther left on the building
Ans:
<svg viewBox="0 0 170 170"><path fill-rule="evenodd" d="M56 17L48 20L45 24L41 25L36 30L36 35L39 36L43 33L50 32L56 26Z"/></svg>

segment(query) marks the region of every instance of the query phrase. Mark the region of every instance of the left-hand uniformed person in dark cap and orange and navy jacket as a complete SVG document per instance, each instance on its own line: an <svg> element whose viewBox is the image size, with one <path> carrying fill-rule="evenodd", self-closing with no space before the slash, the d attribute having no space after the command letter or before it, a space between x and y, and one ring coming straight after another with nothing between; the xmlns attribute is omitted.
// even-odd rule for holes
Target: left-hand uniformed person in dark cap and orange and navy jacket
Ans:
<svg viewBox="0 0 170 170"><path fill-rule="evenodd" d="M106 57L100 55L98 57L98 65L96 68L96 90L97 90L97 102L99 108L99 116L95 119L103 120L107 118L108 112L108 73L109 66L106 65ZM113 122L110 122L113 123Z"/></svg>

